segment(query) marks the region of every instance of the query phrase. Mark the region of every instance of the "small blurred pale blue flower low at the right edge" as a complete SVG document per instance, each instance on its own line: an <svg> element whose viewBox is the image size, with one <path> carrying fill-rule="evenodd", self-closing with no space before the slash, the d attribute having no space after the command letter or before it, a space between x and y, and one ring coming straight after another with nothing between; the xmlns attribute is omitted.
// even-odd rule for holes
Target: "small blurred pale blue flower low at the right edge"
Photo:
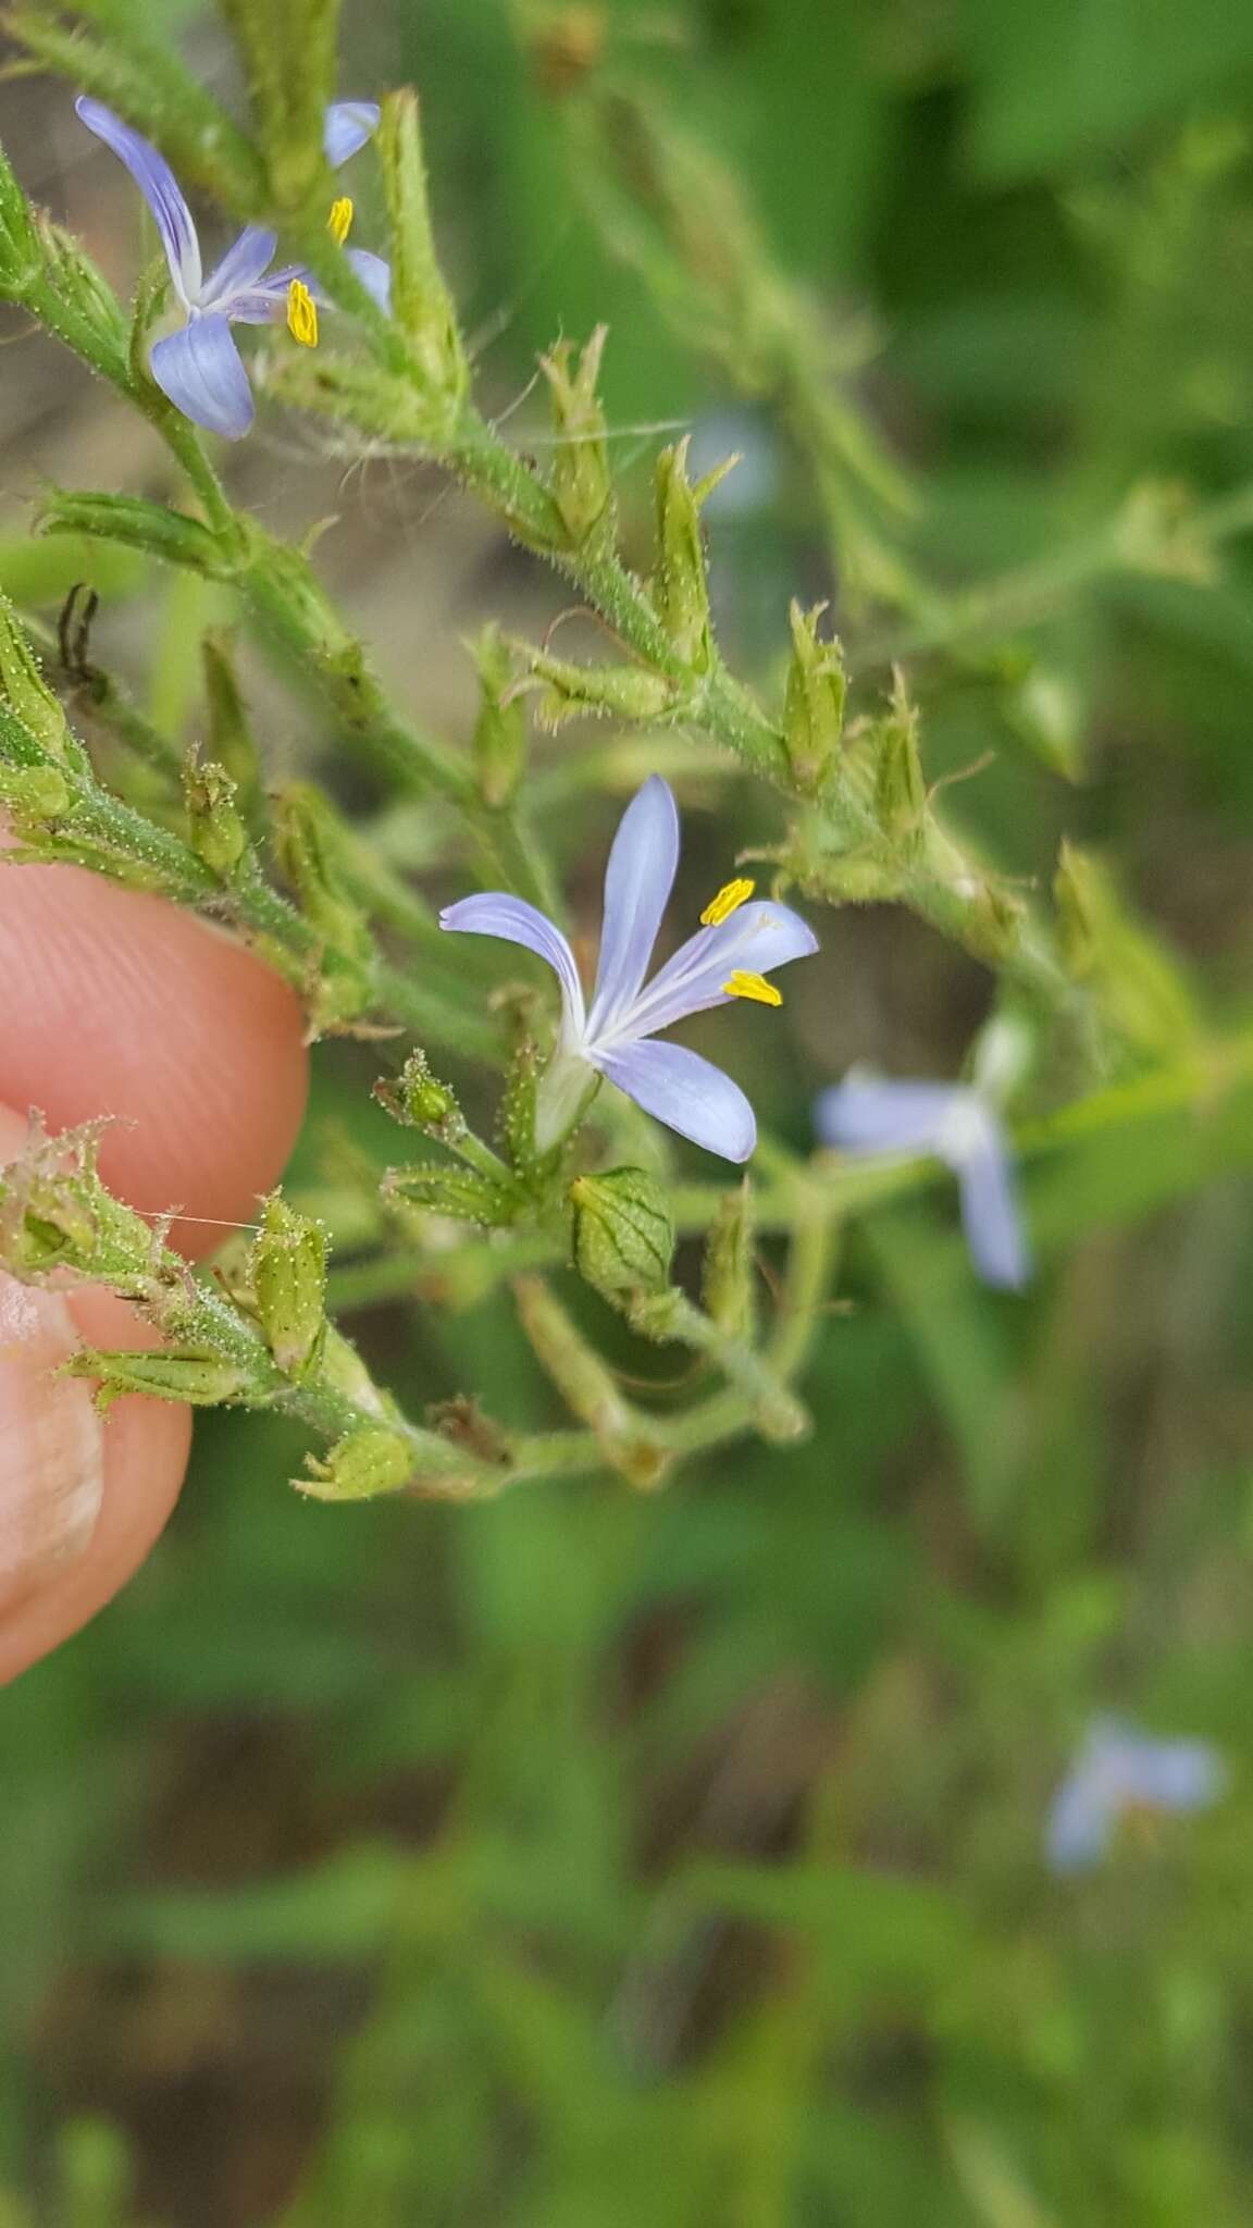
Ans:
<svg viewBox="0 0 1253 2228"><path fill-rule="evenodd" d="M1197 1811L1217 1802L1226 1765L1206 1740L1155 1740L1117 1718L1097 1718L1048 1807L1052 1872L1097 1865L1121 1818Z"/></svg>

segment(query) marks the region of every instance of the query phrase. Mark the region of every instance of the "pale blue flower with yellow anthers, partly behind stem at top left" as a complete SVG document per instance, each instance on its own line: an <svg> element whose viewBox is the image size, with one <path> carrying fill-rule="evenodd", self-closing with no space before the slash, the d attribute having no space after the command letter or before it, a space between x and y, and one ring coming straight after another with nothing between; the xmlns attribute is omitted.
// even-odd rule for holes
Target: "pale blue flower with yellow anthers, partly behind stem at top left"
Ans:
<svg viewBox="0 0 1253 2228"><path fill-rule="evenodd" d="M270 325L288 319L297 341L308 348L317 343L317 290L301 265L270 270L276 234L261 225L245 225L234 247L227 247L218 267L205 278L201 263L201 238L169 163L156 147L132 131L114 116L103 100L82 94L76 100L78 116L96 138L127 165L143 198L147 201L174 292L185 312L178 332L156 341L149 356L152 377L183 417L210 432L239 441L252 426L254 405L243 356L234 345L232 325ZM339 169L348 156L366 145L379 125L379 109L372 100L341 100L326 111L323 147L328 163ZM330 212L330 229L343 241L352 221L352 203L337 201ZM348 258L370 287L375 301L388 307L388 265L363 247L350 247Z"/></svg>

